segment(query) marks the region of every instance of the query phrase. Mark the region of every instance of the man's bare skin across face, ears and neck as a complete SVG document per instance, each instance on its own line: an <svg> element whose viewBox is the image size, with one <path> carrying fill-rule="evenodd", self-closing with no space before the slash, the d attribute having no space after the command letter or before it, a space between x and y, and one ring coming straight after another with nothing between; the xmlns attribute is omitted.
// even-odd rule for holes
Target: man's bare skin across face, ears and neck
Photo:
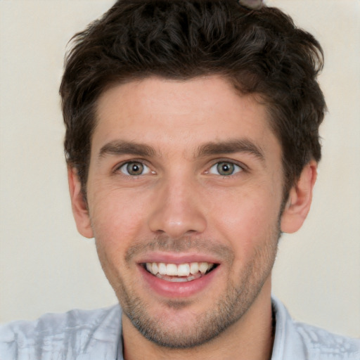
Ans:
<svg viewBox="0 0 360 360"><path fill-rule="evenodd" d="M281 146L266 108L221 77L116 85L97 110L87 204L71 168L70 195L124 309L125 358L269 359L278 237L307 216L316 163L281 212ZM143 172L129 174L129 162ZM231 174L219 173L224 162ZM169 290L143 269L152 261L217 268Z"/></svg>

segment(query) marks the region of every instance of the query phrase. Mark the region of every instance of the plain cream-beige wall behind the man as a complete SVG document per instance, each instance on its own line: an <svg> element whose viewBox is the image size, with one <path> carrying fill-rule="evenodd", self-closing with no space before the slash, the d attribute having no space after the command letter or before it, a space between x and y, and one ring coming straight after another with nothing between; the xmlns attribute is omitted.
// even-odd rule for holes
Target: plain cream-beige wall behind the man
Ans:
<svg viewBox="0 0 360 360"><path fill-rule="evenodd" d="M274 294L295 319L360 336L360 1L269 0L323 45L329 112L303 229L283 236ZM68 39L113 0L0 0L0 321L116 302L77 234L58 86Z"/></svg>

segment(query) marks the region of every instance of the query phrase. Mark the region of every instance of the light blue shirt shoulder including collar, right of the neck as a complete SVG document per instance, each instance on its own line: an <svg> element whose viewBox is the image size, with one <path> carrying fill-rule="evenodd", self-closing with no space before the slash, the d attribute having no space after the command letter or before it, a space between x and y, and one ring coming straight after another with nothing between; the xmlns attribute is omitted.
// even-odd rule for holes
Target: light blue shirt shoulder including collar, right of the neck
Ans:
<svg viewBox="0 0 360 360"><path fill-rule="evenodd" d="M276 314L272 360L360 360L360 339L293 321L279 300L273 298L272 304Z"/></svg>

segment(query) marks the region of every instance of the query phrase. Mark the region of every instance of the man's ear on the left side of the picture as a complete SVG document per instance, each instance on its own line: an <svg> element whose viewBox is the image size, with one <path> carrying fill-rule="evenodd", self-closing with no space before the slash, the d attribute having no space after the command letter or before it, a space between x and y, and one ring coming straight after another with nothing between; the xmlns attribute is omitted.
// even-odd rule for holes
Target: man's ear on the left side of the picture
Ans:
<svg viewBox="0 0 360 360"><path fill-rule="evenodd" d="M77 176L77 169L68 166L68 181L71 198L72 214L74 215L77 231L85 236L85 238L94 238L93 230L91 229L91 221L89 217L89 210L87 208L84 194L82 193L82 184L79 176Z"/></svg>

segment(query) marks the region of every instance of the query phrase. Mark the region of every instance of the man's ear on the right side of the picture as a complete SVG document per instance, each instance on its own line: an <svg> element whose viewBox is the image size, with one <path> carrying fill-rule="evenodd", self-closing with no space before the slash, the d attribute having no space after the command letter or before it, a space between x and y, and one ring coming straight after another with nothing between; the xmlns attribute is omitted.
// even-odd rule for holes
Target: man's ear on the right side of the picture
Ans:
<svg viewBox="0 0 360 360"><path fill-rule="evenodd" d="M316 168L316 161L311 160L302 169L297 183L290 189L288 201L281 216L281 231L284 233L295 233L299 230L309 213L317 175Z"/></svg>

